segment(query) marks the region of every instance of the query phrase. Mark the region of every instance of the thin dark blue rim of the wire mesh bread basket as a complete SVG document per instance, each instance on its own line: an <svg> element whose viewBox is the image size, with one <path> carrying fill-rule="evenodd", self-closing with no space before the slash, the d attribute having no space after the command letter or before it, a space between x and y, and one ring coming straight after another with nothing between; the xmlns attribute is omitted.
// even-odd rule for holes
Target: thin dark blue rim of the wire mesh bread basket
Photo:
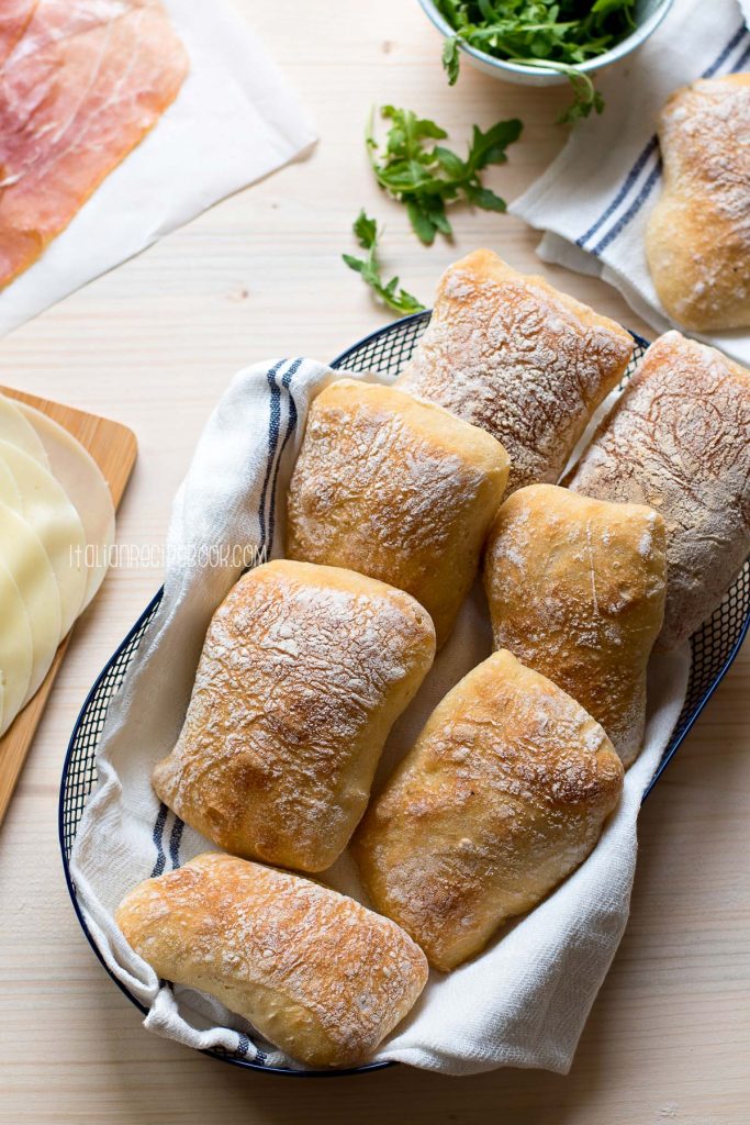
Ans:
<svg viewBox="0 0 750 1125"><path fill-rule="evenodd" d="M418 322L422 322L422 321L428 321L431 316L432 316L432 312L430 309L426 309L423 313L413 313L410 316L405 316L401 320L394 321L391 324L387 325L386 328L378 328L374 332L370 332L367 336L363 336L355 344L352 344L351 348L347 348L345 351L341 352L341 354L338 354L331 362L331 367L334 370L344 367L346 360L354 352L359 351L361 348L364 348L372 340L377 340L379 336L383 335L386 332L391 332L391 331L394 331L394 330L396 330L398 327L403 327L403 326L412 324L412 323L418 323ZM644 340L642 336L639 336L635 332L631 332L631 335L633 336L633 339L635 340L635 342L639 343L641 346L643 346L643 348L648 348L649 346L649 341ZM146 609L143 611L143 613L141 614L141 616L138 618L138 620L135 622L135 624L133 626L133 628L128 631L128 633L125 637L125 639L121 641L120 645L118 645L117 649L115 650L115 652L112 654L112 656L109 658L109 660L107 662L107 664L105 665L105 667L101 669L101 672L97 676L97 678L96 678L96 681L94 681L91 690L89 691L89 693L88 693L88 695L87 695L87 698L85 698L85 700L83 702L83 705L82 705L81 710L79 711L78 719L75 720L75 724L73 727L73 732L72 732L70 741L67 744L67 750L65 753L65 759L63 762L63 771L62 771L61 783L60 783L60 798L58 798L58 803L57 803L57 836L58 836L58 842L60 842L60 854L61 854L62 863L63 863L63 873L65 875L65 884L67 886L67 893L70 894L70 899L71 899L72 906L73 906L73 910L75 911L75 917L78 918L79 925L81 926L81 929L83 930L89 945L93 950L93 952L94 952L94 954L97 956L97 960L101 964L101 966L105 970L105 972L108 974L108 976L111 978L111 980L115 982L115 984L120 990L120 992L123 992L123 994L127 997L127 999L130 1001L130 1004L135 1005L135 1007L138 1008L138 1010L144 1016L148 1015L148 1009L143 1004L141 1004L141 1001L135 996L133 996L132 992L128 991L128 989L125 987L125 984L120 980L118 980L117 976L114 974L114 972L109 969L109 966L105 962L105 958L102 957L102 955L101 955L101 953L99 951L99 947L97 946L97 944L96 944L96 942L94 942L94 939L93 939L93 937L92 937L92 935L91 935L91 933L89 930L87 921L85 921L85 919L83 917L83 914L81 911L81 907L79 906L78 896L75 893L75 886L73 884L73 880L71 879L70 863L69 863L69 858L67 858L67 854L66 854L66 849L65 849L65 826L64 826L64 813L65 813L65 810L64 810L64 799L65 799L65 782L66 782L66 778L67 778L67 771L69 771L71 758L73 757L73 753L75 750L75 738L76 738L79 728L80 728L80 726L81 726L81 723L82 723L82 721L83 721L83 719L84 719L84 717L85 717L85 714L87 714L87 712L89 710L89 706L91 705L91 703L93 702L97 693L99 692L99 688L101 687L101 685L102 685L106 676L108 675L110 667L123 655L123 652L125 651L125 649L132 642L133 638L137 636L137 633L139 632L139 630L143 628L144 623L154 613L154 611L156 610L156 608L160 605L160 603L162 601L163 594L164 594L164 587L162 586L156 592L156 594L152 597L151 602L148 603L148 605L146 606ZM658 767L657 767L657 770L656 770L656 772L653 774L653 777L651 778L648 788L644 790L643 796L641 799L641 803L643 803L645 801L645 799L649 796L649 794L651 793L651 790L656 785L657 781L659 780L659 777L661 776L661 774L665 772L665 770L667 768L667 766L669 765L669 763L674 758L675 754L677 753L677 750L679 749L679 747L683 745L683 742L687 738L688 734L690 732L690 730L693 729L693 727L697 722L699 716L703 713L703 710L705 709L705 706L708 703L708 701L711 700L712 695L714 694L714 692L719 687L719 684L721 683L721 681L724 678L724 676L729 672L730 666L734 662L734 658L737 657L737 654L739 652L740 648L742 647L742 642L743 642L743 640L744 640L744 638L746 638L746 636L748 633L748 629L749 628L750 628L750 616L748 616L748 619L746 620L746 622L744 622L744 624L743 624L743 627L742 627L742 629L740 631L740 634L739 634L739 637L737 639L737 642L735 642L734 647L732 648L729 657L726 658L724 665L722 666L722 669L721 669L720 674L715 677L713 684L711 685L711 687L708 688L708 691L704 695L704 698L703 698L701 704L698 705L698 708L696 709L696 711L690 717L690 720L686 724L685 729L680 732L680 735L677 738L677 740L675 741L675 744L672 746L670 746L668 753L662 757L661 762L659 763L659 765L658 765ZM211 1059L218 1059L219 1062L227 1063L231 1066L240 1066L243 1070L252 1070L252 1071L256 1071L256 1072L263 1073L263 1074L278 1074L278 1076L283 1076L283 1077L287 1077L287 1078L344 1078L344 1077L353 1077L353 1076L356 1076L356 1074L368 1074L368 1073L371 1073L372 1071L386 1070L389 1066L396 1066L396 1065L398 1065L398 1063L396 1061L386 1061L386 1062L364 1063L361 1066L352 1066L352 1068L346 1068L346 1069L342 1069L342 1070L292 1070L290 1066L264 1066L261 1063L253 1062L250 1059L238 1059L235 1055L231 1054L229 1052L216 1051L216 1050L211 1050L210 1047L208 1047L206 1050L202 1050L200 1053L205 1054L205 1055L208 1055Z"/></svg>

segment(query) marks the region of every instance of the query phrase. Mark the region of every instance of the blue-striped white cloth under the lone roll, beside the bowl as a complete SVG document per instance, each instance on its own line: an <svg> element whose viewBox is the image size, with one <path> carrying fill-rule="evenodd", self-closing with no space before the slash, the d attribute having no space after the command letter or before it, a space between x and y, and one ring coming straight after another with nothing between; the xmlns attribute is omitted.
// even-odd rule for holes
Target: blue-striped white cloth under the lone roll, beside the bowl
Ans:
<svg viewBox="0 0 750 1125"><path fill-rule="evenodd" d="M579 123L560 155L509 210L546 233L537 253L620 289L657 332L679 328L663 309L643 245L661 186L656 135L681 86L750 69L750 0L676 0L651 38L597 80L600 116ZM695 335L695 333L693 333ZM750 364L750 330L698 336Z"/></svg>

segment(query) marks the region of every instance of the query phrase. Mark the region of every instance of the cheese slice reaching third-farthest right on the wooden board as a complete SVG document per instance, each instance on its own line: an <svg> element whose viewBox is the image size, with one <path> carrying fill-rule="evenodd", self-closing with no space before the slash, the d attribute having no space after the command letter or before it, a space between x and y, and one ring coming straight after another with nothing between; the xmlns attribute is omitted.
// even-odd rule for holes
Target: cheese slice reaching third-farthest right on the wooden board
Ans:
<svg viewBox="0 0 750 1125"><path fill-rule="evenodd" d="M0 562L12 575L31 629L31 676L24 696L27 703L46 676L62 640L62 611L47 552L26 520L7 504L0 504ZM0 632L8 631L3 621Z"/></svg>

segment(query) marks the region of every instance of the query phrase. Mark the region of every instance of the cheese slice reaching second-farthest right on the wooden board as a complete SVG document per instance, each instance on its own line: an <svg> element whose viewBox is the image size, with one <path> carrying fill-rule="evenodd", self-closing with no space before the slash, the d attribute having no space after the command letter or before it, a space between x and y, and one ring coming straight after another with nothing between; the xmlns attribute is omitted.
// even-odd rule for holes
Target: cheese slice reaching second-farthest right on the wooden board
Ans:
<svg viewBox="0 0 750 1125"><path fill-rule="evenodd" d="M21 515L52 564L64 637L81 611L88 582L83 524L60 482L28 453L0 441L0 465L12 474L21 497Z"/></svg>

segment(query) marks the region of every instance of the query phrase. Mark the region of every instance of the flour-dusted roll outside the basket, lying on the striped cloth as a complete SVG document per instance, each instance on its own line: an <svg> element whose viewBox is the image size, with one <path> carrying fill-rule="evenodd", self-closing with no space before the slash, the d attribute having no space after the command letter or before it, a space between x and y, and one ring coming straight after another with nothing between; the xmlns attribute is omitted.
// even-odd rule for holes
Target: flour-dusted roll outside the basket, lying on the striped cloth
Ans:
<svg viewBox="0 0 750 1125"><path fill-rule="evenodd" d="M699 79L661 111L665 179L645 253L662 305L696 332L750 326L750 74Z"/></svg>

